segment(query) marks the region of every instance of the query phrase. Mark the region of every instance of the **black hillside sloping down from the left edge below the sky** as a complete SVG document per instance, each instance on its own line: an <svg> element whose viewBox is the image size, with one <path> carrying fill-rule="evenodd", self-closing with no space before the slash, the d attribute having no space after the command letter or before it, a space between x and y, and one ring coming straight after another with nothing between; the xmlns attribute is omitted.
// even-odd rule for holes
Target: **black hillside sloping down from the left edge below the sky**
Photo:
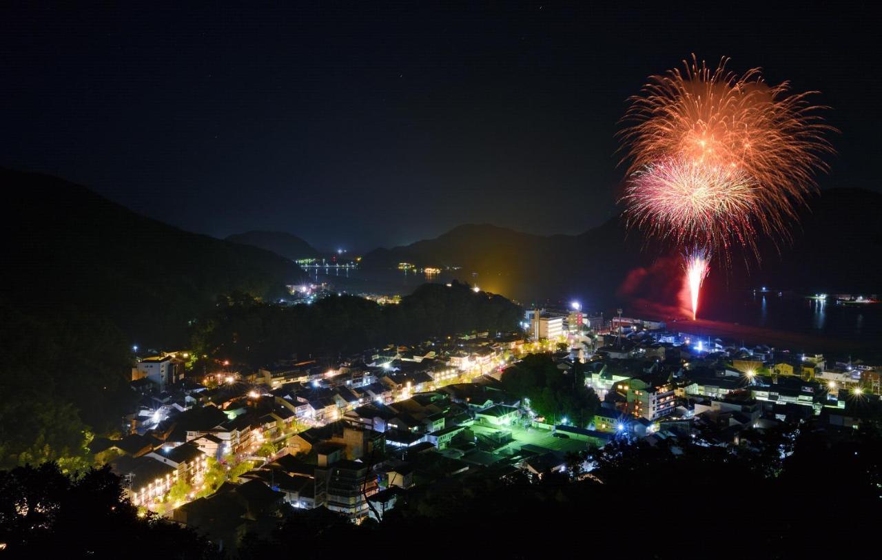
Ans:
<svg viewBox="0 0 882 560"><path fill-rule="evenodd" d="M235 290L273 297L302 278L270 251L174 228L48 175L0 170L4 298L20 309L109 317L131 340L175 346Z"/></svg>

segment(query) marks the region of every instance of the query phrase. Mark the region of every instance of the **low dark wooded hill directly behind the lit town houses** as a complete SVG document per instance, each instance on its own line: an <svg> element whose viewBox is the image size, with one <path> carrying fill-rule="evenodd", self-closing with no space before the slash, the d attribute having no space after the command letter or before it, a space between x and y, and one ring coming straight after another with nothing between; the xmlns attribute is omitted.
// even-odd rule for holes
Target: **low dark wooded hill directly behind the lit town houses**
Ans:
<svg viewBox="0 0 882 560"><path fill-rule="evenodd" d="M386 306L350 295L292 307L234 295L196 325L192 347L199 355L259 366L293 353L333 355L452 332L510 331L520 314L504 297L475 294L460 283L425 284Z"/></svg>

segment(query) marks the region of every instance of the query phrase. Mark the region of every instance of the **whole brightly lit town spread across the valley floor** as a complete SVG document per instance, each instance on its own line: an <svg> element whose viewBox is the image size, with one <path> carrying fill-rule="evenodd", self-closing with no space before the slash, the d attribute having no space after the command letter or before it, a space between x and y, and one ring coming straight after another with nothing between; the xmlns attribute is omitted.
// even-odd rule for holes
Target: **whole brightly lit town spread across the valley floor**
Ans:
<svg viewBox="0 0 882 560"><path fill-rule="evenodd" d="M186 351L141 356L127 433L90 450L123 478L142 515L235 542L273 526L286 506L360 523L382 519L408 489L466 474L591 476L579 453L617 440L727 448L811 419L856 429L861 403L880 392L878 366L736 346L621 314L589 317L575 302L527 310L520 326L333 363L216 361L200 372ZM568 417L562 405L532 402L514 377L539 360L594 403Z"/></svg>

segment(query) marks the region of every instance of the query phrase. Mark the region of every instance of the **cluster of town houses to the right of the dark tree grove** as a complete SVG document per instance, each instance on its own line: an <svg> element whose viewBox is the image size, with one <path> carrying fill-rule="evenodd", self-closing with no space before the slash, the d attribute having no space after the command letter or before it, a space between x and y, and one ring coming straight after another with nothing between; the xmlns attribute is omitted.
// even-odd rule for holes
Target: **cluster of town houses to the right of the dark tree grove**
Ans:
<svg viewBox="0 0 882 560"><path fill-rule="evenodd" d="M736 444L744 429L812 417L833 429L856 428L854 408L878 399L882 373L862 363L830 363L823 355L662 330L609 335L583 367L604 410L618 414L595 417L594 429L650 441L701 437L721 445Z"/></svg>

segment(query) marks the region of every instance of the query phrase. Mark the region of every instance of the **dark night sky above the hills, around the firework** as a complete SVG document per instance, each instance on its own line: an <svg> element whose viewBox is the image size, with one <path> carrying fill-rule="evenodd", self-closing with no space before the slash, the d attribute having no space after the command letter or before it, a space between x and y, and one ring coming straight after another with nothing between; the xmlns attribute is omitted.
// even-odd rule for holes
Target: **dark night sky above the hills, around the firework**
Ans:
<svg viewBox="0 0 882 560"><path fill-rule="evenodd" d="M695 52L821 90L842 131L821 186L880 189L873 4L584 4L4 4L0 165L216 236L579 233L616 212L625 99Z"/></svg>

